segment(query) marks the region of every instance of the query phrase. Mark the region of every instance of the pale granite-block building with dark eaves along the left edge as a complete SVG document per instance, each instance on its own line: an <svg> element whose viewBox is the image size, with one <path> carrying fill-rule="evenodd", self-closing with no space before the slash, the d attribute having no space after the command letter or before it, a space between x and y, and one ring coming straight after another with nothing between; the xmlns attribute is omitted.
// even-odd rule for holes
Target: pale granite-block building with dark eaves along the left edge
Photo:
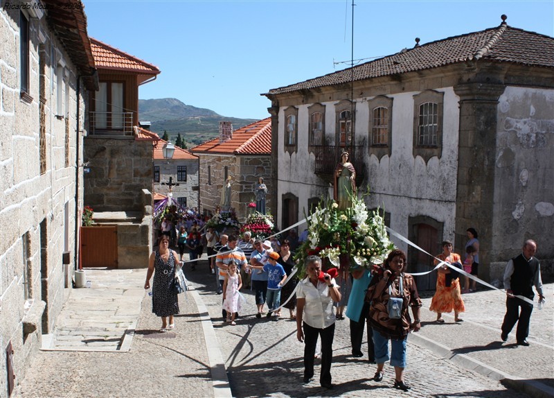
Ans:
<svg viewBox="0 0 554 398"><path fill-rule="evenodd" d="M41 3L47 12L0 8L0 397L24 379L71 291L84 98L98 87L84 12Z"/></svg>

